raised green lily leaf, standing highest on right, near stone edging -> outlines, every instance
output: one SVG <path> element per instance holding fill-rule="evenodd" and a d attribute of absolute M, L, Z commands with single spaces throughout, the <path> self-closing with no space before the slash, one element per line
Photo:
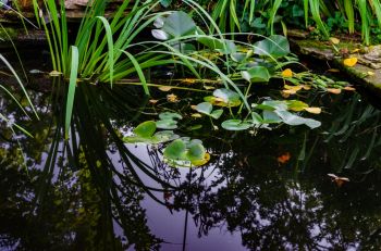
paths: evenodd
<path fill-rule="evenodd" d="M 272 58 L 281 58 L 290 53 L 287 39 L 280 35 L 272 35 L 267 39 L 256 42 L 254 53 Z"/>

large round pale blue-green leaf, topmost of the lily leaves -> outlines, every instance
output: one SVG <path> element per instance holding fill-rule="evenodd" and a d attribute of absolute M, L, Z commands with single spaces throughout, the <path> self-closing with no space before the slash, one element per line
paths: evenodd
<path fill-rule="evenodd" d="M 196 24 L 188 14 L 183 11 L 175 11 L 170 14 L 165 21 L 162 30 L 170 34 L 174 38 L 195 34 Z"/>

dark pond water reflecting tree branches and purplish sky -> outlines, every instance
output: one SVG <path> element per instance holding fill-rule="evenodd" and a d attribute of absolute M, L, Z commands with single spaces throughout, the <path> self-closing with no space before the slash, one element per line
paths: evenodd
<path fill-rule="evenodd" d="M 39 121 L 0 103 L 35 136 L 14 136 L 1 123 L 1 250 L 381 248 L 381 114 L 358 93 L 308 91 L 302 98 L 323 108 L 308 115 L 321 127 L 250 134 L 186 116 L 194 93 L 173 90 L 180 101 L 168 103 L 153 91 L 153 105 L 135 87 L 79 85 L 65 141 L 64 85 L 41 75 L 29 88 L 38 89 L 30 96 Z M 179 134 L 204 141 L 206 166 L 172 168 L 162 147 L 121 140 L 164 108 L 186 117 Z M 194 125 L 202 127 L 187 130 Z"/>

